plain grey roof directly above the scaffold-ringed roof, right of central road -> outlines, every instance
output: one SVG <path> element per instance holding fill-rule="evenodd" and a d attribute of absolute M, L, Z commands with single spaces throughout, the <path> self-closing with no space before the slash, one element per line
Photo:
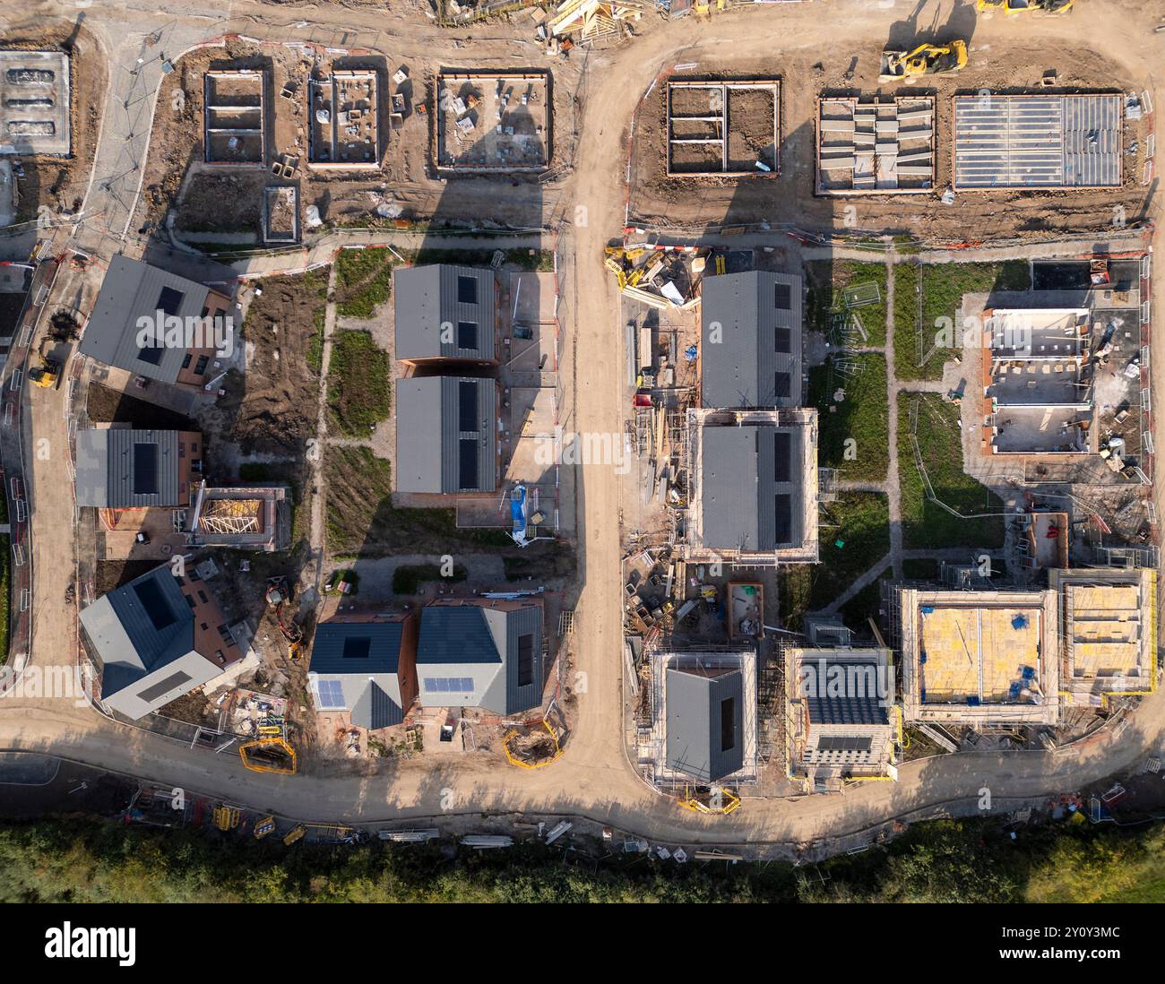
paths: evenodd
<path fill-rule="evenodd" d="M 777 306 L 778 286 L 782 306 Z M 785 293 L 788 306 L 784 306 Z M 700 319 L 701 405 L 711 409 L 800 405 L 799 276 L 751 270 L 705 277 Z"/>

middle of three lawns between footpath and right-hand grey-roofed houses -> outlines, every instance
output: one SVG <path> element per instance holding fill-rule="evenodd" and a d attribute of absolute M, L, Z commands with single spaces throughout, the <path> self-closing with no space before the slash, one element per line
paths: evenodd
<path fill-rule="evenodd" d="M 843 375 L 832 360 L 810 369 L 809 404 L 819 413 L 818 462 L 841 469 L 842 479 L 881 482 L 889 466 L 890 441 L 885 358 L 870 353 L 847 361 L 861 366 L 861 371 Z M 834 403 L 839 389 L 846 398 Z M 847 445 L 850 438 L 854 444 Z"/>

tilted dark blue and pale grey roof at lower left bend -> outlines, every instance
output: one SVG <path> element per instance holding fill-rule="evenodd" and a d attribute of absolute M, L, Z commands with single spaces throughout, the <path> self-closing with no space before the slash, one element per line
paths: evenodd
<path fill-rule="evenodd" d="M 195 652 L 195 616 L 167 565 L 101 595 L 80 622 L 104 665 L 103 700 Z"/>

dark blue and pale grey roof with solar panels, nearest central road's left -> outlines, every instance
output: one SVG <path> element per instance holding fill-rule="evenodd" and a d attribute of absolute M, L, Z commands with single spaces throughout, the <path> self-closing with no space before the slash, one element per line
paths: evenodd
<path fill-rule="evenodd" d="M 531 636 L 529 682 L 520 680 L 518 647 Z M 510 715 L 542 702 L 542 609 L 503 611 L 481 606 L 428 606 L 421 614 L 417 677 L 421 702 L 429 707 L 481 707 Z M 468 682 L 438 689 L 435 680 Z"/>

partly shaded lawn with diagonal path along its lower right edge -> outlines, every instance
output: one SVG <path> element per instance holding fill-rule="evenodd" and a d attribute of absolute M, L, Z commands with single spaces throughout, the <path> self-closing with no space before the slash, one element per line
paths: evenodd
<path fill-rule="evenodd" d="M 890 505 L 880 493 L 842 493 L 821 503 L 820 525 L 821 562 L 781 573 L 781 622 L 793 631 L 805 613 L 825 608 L 890 552 Z"/>

